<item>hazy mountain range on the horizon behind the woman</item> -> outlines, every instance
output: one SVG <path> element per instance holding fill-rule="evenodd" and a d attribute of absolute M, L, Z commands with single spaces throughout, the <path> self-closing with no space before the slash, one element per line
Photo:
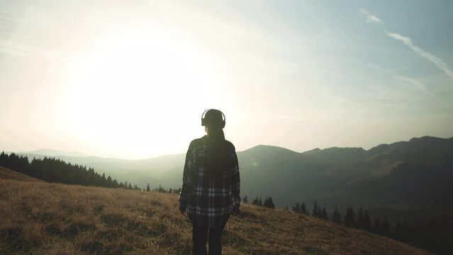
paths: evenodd
<path fill-rule="evenodd" d="M 181 186 L 184 154 L 152 159 L 126 160 L 52 156 L 73 164 L 91 166 L 118 181 L 145 187 Z M 413 138 L 408 142 L 378 145 L 371 149 L 313 149 L 293 152 L 282 147 L 258 145 L 237 152 L 241 194 L 252 200 L 272 196 L 277 207 L 314 201 L 332 211 L 367 208 L 379 213 L 411 212 L 439 208 L 452 212 L 453 137 Z M 389 210 L 393 210 L 390 212 Z"/>

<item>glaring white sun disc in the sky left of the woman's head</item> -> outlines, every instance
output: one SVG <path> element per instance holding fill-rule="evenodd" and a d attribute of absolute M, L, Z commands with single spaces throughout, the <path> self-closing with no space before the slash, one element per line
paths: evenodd
<path fill-rule="evenodd" d="M 66 123 L 103 150 L 149 152 L 152 142 L 165 152 L 169 138 L 183 135 L 172 128 L 193 118 L 181 113 L 198 113 L 211 103 L 203 94 L 216 94 L 208 86 L 221 82 L 213 62 L 188 35 L 156 23 L 106 30 L 72 59 Z"/>

